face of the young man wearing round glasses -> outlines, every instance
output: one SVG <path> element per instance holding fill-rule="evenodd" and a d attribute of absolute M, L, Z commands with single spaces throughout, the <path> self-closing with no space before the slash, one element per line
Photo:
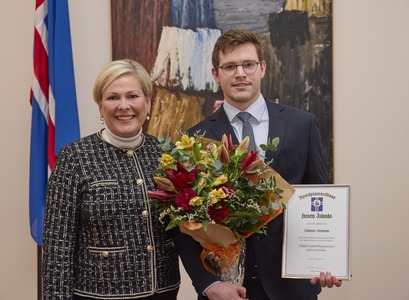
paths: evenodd
<path fill-rule="evenodd" d="M 241 65 L 246 62 L 258 62 L 256 47 L 251 43 L 238 46 L 234 50 L 225 54 L 220 53 L 219 66 L 227 64 Z M 261 62 L 253 74 L 247 75 L 243 67 L 238 66 L 236 73 L 226 76 L 221 68 L 213 68 L 212 74 L 215 81 L 223 90 L 225 100 L 232 106 L 240 110 L 245 110 L 260 95 L 261 79 L 266 70 L 265 61 Z"/>

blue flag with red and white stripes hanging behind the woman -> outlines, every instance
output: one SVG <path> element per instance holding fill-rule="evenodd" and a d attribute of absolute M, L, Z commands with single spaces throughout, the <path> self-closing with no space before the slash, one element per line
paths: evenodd
<path fill-rule="evenodd" d="M 62 147 L 80 138 L 68 0 L 36 0 L 30 141 L 30 230 L 42 243 L 48 175 Z"/>

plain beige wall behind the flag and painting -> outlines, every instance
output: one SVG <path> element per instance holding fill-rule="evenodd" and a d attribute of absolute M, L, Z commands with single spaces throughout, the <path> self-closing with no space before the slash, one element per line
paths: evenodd
<path fill-rule="evenodd" d="M 335 182 L 352 185 L 353 279 L 320 299 L 409 299 L 409 1 L 334 1 Z M 96 73 L 110 60 L 109 0 L 70 0 L 81 133 L 100 127 Z M 36 298 L 28 224 L 34 0 L 0 1 L 0 299 Z M 194 299 L 183 279 L 180 299 Z"/>

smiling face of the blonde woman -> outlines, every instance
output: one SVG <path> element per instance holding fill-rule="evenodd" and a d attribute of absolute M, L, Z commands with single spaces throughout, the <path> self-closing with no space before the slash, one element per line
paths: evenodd
<path fill-rule="evenodd" d="M 99 112 L 108 129 L 119 137 L 135 136 L 151 108 L 151 95 L 145 96 L 141 83 L 133 74 L 115 79 L 99 103 Z"/>

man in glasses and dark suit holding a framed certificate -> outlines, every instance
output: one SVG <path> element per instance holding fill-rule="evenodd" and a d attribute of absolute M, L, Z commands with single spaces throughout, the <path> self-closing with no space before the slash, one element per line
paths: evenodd
<path fill-rule="evenodd" d="M 257 37 L 241 29 L 227 31 L 214 46 L 212 64 L 212 74 L 223 91 L 224 103 L 189 133 L 199 132 L 215 140 L 231 134 L 233 143 L 238 144 L 245 137 L 242 129 L 246 121 L 241 121 L 237 114 L 248 112 L 256 145 L 280 138 L 276 152 L 263 153 L 257 149 L 265 155 L 265 162 L 291 184 L 326 183 L 321 137 L 314 115 L 266 101 L 261 94 L 266 62 Z M 267 235 L 253 234 L 247 238 L 242 287 L 220 282 L 207 272 L 199 257 L 202 247 L 190 236 L 177 233 L 175 238 L 199 299 L 314 300 L 321 286 L 341 286 L 342 282 L 329 272 L 312 280 L 281 278 L 282 240 L 282 214 L 268 223 Z"/>

